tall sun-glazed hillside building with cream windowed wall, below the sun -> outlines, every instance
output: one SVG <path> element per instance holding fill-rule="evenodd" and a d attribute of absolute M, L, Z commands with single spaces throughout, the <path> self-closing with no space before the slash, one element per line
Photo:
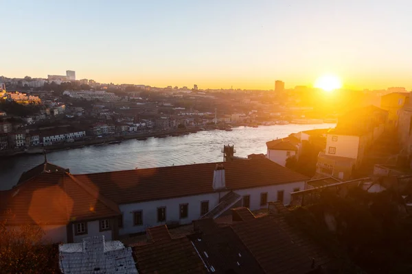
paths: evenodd
<path fill-rule="evenodd" d="M 326 136 L 325 151 L 319 152 L 317 177 L 352 178 L 363 164 L 365 151 L 382 135 L 388 112 L 374 105 L 347 112 Z"/>

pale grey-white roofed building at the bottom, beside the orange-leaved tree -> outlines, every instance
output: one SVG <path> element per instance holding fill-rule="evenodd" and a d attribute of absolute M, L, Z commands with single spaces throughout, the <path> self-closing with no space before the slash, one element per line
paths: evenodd
<path fill-rule="evenodd" d="M 60 245 L 58 251 L 60 271 L 65 274 L 137 274 L 132 249 L 119 240 L 84 238 L 82 242 Z"/>

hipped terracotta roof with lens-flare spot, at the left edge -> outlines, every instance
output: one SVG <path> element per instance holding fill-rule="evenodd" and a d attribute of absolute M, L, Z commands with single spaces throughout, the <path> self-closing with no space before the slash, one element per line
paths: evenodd
<path fill-rule="evenodd" d="M 115 203 L 68 173 L 42 173 L 7 195 L 8 203 L 0 204 L 0 219 L 8 219 L 9 224 L 67 224 L 120 214 Z"/>

